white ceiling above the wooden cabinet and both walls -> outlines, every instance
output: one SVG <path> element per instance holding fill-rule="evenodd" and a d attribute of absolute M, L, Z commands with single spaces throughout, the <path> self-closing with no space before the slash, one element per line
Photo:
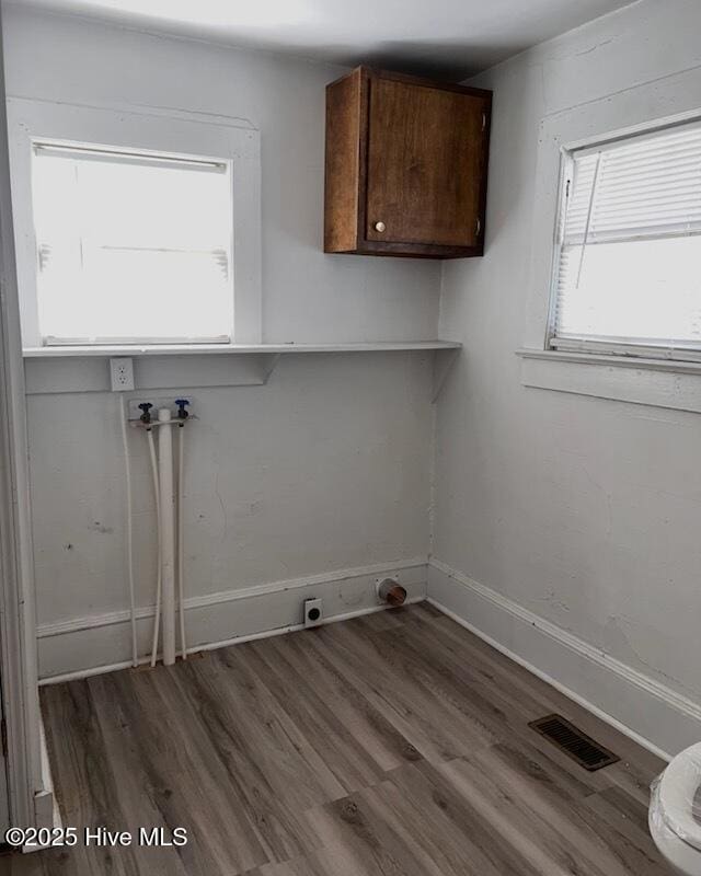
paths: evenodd
<path fill-rule="evenodd" d="M 14 0 L 142 30 L 463 79 L 631 0 Z"/>

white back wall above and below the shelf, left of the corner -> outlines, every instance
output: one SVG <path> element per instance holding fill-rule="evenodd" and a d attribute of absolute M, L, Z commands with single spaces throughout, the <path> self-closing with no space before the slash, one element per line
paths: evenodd
<path fill-rule="evenodd" d="M 266 341 L 436 336 L 439 264 L 321 251 L 324 85 L 341 70 L 14 8 L 4 39 L 12 96 L 174 107 L 260 128 Z M 425 558 L 430 364 L 430 354 L 290 356 L 267 387 L 188 390 L 202 416 L 186 476 L 191 595 Z M 44 627 L 82 629 L 80 619 L 127 604 L 115 404 L 104 392 L 28 400 Z M 148 606 L 153 515 L 140 437 L 137 584 Z M 368 600 L 354 595 L 353 607 Z M 269 625 L 297 619 L 295 609 Z M 41 641 L 44 675 L 93 659 L 71 650 L 71 635 L 60 647 Z M 101 661 L 127 656 L 125 624 L 107 652 Z"/>

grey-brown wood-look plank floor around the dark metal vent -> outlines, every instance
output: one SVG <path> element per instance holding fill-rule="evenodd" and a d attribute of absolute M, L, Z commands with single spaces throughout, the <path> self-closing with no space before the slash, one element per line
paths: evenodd
<path fill-rule="evenodd" d="M 0 858 L 11 876 L 663 876 L 663 763 L 424 603 L 42 690 L 66 825 L 174 849 Z M 587 773 L 559 712 L 621 757 Z M 1 872 L 2 865 L 0 865 Z"/>

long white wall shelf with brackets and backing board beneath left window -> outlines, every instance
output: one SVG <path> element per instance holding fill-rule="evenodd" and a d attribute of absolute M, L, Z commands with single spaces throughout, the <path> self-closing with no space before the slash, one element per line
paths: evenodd
<path fill-rule="evenodd" d="M 110 391 L 107 359 L 133 357 L 136 391 L 193 387 L 265 385 L 284 356 L 308 353 L 433 353 L 433 401 L 461 344 L 453 341 L 369 341 L 355 344 L 198 344 L 28 347 L 28 395 Z"/>

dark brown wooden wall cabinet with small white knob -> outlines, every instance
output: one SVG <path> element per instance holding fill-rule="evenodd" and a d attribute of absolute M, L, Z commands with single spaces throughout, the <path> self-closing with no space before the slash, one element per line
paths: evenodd
<path fill-rule="evenodd" d="M 359 67 L 326 87 L 324 252 L 482 255 L 492 92 Z"/>

